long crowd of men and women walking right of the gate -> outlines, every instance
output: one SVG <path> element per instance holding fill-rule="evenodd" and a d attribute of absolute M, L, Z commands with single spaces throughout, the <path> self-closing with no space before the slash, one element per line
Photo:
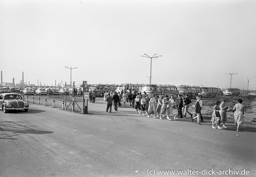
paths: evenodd
<path fill-rule="evenodd" d="M 173 115 L 174 120 L 178 118 L 186 117 L 187 114 L 190 115 L 190 119 L 193 122 L 193 120 L 197 119 L 197 124 L 202 125 L 200 121 L 203 120 L 203 116 L 201 114 L 201 109 L 203 106 L 203 102 L 201 100 L 201 96 L 196 97 L 196 103 L 194 104 L 194 111 L 195 115 L 193 116 L 192 113 L 188 111 L 188 108 L 190 106 L 191 100 L 188 95 L 186 95 L 185 98 L 182 97 L 181 94 L 178 95 L 177 100 L 174 100 L 174 96 L 171 95 L 170 97 L 168 95 L 165 95 L 164 97 L 162 95 L 155 96 L 153 95 L 151 98 L 149 98 L 149 95 L 146 94 L 146 92 L 137 93 L 134 90 L 129 92 L 128 90 L 126 92 L 115 92 L 113 97 L 111 96 L 110 91 L 106 92 L 104 94 L 104 100 L 105 103 L 107 103 L 107 109 L 106 112 L 111 112 L 112 103 L 114 104 L 114 109 L 117 111 L 118 106 L 122 106 L 121 102 L 124 103 L 130 103 L 130 106 L 132 108 L 135 108 L 136 112 L 138 112 L 140 115 L 142 114 L 145 116 L 145 114 L 148 114 L 148 117 L 150 115 L 153 115 L 154 118 L 163 119 L 163 117 L 166 117 L 168 120 L 170 119 L 170 114 Z M 212 112 L 212 128 L 218 128 L 218 129 L 224 129 L 227 128 L 225 126 L 225 123 L 227 122 L 227 113 L 226 110 L 228 109 L 228 106 L 225 104 L 226 100 L 222 99 L 220 101 L 216 101 L 215 106 L 213 107 Z M 237 125 L 237 130 L 240 131 L 239 127 L 241 124 L 243 124 L 244 119 L 244 111 L 246 111 L 243 104 L 241 104 L 243 101 L 242 99 L 237 100 L 237 104 L 234 106 L 234 123 Z M 219 105 L 220 104 L 220 105 Z M 177 116 L 176 110 L 178 112 Z M 184 111 L 184 115 L 182 113 Z M 220 127 L 220 123 L 222 123 L 222 127 Z M 215 125 L 217 127 L 215 127 Z"/>

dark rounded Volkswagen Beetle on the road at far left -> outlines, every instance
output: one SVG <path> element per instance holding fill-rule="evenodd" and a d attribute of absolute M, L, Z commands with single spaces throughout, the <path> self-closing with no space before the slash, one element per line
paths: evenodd
<path fill-rule="evenodd" d="M 20 94 L 3 93 L 0 95 L 0 109 L 7 113 L 8 110 L 24 110 L 28 111 L 29 105 L 24 102 Z"/>

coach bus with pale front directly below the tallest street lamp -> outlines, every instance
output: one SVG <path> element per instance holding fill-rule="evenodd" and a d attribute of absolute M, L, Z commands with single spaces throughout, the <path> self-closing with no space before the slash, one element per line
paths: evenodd
<path fill-rule="evenodd" d="M 148 96 L 151 98 L 152 95 L 173 95 L 174 98 L 176 99 L 178 95 L 178 90 L 177 87 L 174 85 L 154 85 L 154 84 L 145 84 L 141 87 L 141 94 L 146 92 Z"/>

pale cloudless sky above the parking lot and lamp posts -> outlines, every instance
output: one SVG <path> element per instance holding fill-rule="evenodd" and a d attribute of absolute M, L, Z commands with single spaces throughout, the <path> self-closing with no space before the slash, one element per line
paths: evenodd
<path fill-rule="evenodd" d="M 88 84 L 151 71 L 151 84 L 256 89 L 255 0 L 0 0 L 0 24 L 3 82 L 69 83 L 66 66 Z"/>

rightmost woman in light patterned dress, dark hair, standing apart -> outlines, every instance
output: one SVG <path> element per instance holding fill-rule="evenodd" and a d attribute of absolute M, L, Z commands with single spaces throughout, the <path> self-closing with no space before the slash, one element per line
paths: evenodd
<path fill-rule="evenodd" d="M 243 100 L 238 99 L 237 104 L 234 106 L 233 111 L 234 112 L 234 123 L 236 124 L 236 131 L 240 132 L 239 127 L 244 122 L 244 111 L 246 111 L 246 108 L 244 104 L 242 104 Z"/>

